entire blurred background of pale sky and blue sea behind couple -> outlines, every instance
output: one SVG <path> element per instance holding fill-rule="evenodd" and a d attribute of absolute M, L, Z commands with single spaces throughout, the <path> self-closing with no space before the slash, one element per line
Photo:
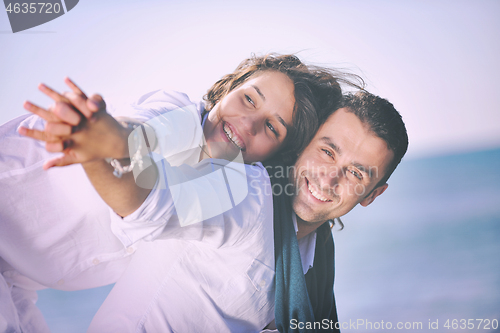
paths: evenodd
<path fill-rule="evenodd" d="M 499 1 L 87 0 L 16 34 L 0 10 L 0 48 L 0 123 L 24 100 L 48 106 L 38 83 L 63 91 L 64 76 L 132 101 L 158 88 L 199 100 L 251 53 L 361 75 L 401 112 L 410 148 L 384 195 L 334 230 L 342 331 L 496 328 L 476 319 L 500 320 Z M 85 332 L 110 290 L 43 290 L 38 304 L 53 332 Z"/>

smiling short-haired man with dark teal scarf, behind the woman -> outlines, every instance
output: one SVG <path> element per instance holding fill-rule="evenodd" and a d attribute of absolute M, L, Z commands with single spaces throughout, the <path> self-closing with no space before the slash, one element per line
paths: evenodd
<path fill-rule="evenodd" d="M 368 206 L 381 195 L 407 147 L 405 125 L 393 105 L 358 92 L 345 96 L 341 108 L 328 117 L 300 154 L 291 177 L 291 201 L 299 242 L 311 235 L 317 237 L 315 258 L 313 268 L 301 278 L 300 258 L 307 255 L 299 255 L 293 237 L 289 198 L 275 196 L 275 314 L 280 332 L 338 330 L 333 239 L 326 222 L 345 215 L 357 204 Z M 273 187 L 286 186 L 286 180 L 278 176 L 282 175 L 280 168 L 273 166 L 271 170 Z"/>

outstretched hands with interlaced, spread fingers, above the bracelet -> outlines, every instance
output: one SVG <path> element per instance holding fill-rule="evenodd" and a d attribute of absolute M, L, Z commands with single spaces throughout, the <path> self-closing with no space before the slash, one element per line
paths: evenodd
<path fill-rule="evenodd" d="M 127 157 L 128 131 L 106 112 L 106 104 L 100 95 L 88 98 L 69 78 L 65 83 L 71 92 L 63 95 L 46 85 L 40 91 L 55 101 L 48 110 L 25 102 L 26 110 L 47 121 L 43 131 L 21 127 L 19 133 L 45 141 L 49 152 L 64 155 L 51 159 L 44 169 L 85 163 L 107 157 Z"/>

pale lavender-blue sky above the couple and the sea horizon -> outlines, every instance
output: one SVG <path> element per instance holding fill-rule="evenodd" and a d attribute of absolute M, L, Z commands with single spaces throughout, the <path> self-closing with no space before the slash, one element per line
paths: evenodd
<path fill-rule="evenodd" d="M 113 100 L 200 99 L 252 52 L 361 74 L 402 113 L 409 157 L 500 147 L 500 2 L 92 1 L 12 34 L 0 11 L 0 123 L 68 75 Z"/>

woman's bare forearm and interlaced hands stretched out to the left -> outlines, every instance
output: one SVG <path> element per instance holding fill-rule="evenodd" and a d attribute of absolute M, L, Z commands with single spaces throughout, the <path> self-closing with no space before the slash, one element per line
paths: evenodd
<path fill-rule="evenodd" d="M 122 126 L 109 115 L 100 96 L 88 99 L 69 79 L 66 83 L 73 92 L 64 96 L 41 86 L 42 92 L 54 99 L 56 104 L 50 111 L 31 103 L 26 103 L 25 107 L 47 121 L 45 131 L 21 128 L 20 134 L 45 141 L 48 151 L 64 153 L 46 162 L 46 169 L 81 163 L 103 200 L 118 215 L 127 216 L 141 206 L 153 188 L 157 178 L 156 167 L 151 164 L 141 172 L 141 186 L 137 185 L 132 173 L 116 178 L 113 167 L 104 158 L 129 157 L 128 137 L 132 128 Z M 85 117 L 79 116 L 75 109 Z M 77 126 L 76 131 L 74 126 Z"/>

